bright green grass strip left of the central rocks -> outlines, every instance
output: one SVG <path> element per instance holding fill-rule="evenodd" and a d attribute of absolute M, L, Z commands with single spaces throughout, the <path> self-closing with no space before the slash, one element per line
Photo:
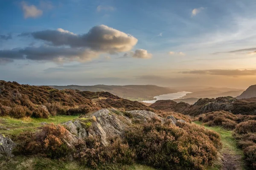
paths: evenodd
<path fill-rule="evenodd" d="M 41 127 L 41 122 L 46 123 L 64 123 L 72 119 L 76 119 L 79 116 L 51 116 L 49 119 L 44 118 L 21 118 L 15 119 L 9 116 L 0 117 L 0 133 L 9 136 L 9 135 L 17 135 L 24 131 L 35 131 L 38 127 Z M 7 130 L 8 129 L 8 130 Z"/>

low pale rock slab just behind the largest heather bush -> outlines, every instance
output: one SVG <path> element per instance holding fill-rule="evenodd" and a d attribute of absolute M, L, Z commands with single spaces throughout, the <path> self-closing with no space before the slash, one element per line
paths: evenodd
<path fill-rule="evenodd" d="M 126 111 L 127 113 L 131 113 L 134 119 L 141 119 L 144 121 L 150 120 L 154 117 L 160 119 L 162 122 L 164 122 L 163 118 L 158 116 L 156 113 L 151 111 Z"/>

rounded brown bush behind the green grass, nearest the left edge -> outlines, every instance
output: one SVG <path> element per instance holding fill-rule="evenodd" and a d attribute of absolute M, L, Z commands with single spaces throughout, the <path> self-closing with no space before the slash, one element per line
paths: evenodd
<path fill-rule="evenodd" d="M 30 111 L 26 106 L 15 105 L 15 107 L 10 109 L 9 115 L 13 118 L 19 119 L 26 116 L 31 116 L 32 111 Z"/>

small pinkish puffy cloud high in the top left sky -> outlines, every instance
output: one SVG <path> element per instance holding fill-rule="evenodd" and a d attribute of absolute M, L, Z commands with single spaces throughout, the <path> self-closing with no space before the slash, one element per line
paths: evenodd
<path fill-rule="evenodd" d="M 36 6 L 34 5 L 27 5 L 27 3 L 25 1 L 22 1 L 21 3 L 22 5 L 22 9 L 23 9 L 23 15 L 24 18 L 36 18 L 36 17 L 40 17 L 43 14 L 43 11 L 38 9 Z"/>

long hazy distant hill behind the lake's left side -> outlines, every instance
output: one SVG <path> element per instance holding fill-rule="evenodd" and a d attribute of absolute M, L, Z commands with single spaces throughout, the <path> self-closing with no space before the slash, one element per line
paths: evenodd
<path fill-rule="evenodd" d="M 124 99 L 143 101 L 153 100 L 154 96 L 162 94 L 176 93 L 177 90 L 156 85 L 67 85 L 67 86 L 50 86 L 58 90 L 76 89 L 79 91 L 107 91 Z"/>

